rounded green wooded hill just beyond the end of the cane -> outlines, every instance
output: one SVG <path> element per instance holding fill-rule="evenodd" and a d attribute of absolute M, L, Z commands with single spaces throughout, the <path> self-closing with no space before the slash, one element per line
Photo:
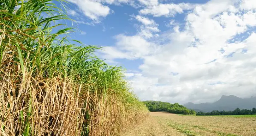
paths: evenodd
<path fill-rule="evenodd" d="M 167 111 L 173 114 L 196 115 L 196 111 L 187 109 L 185 106 L 178 103 L 167 103 L 159 101 L 144 101 L 143 102 L 149 111 Z"/>

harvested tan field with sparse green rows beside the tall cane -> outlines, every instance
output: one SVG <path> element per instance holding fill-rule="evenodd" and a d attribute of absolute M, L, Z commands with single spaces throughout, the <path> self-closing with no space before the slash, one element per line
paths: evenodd
<path fill-rule="evenodd" d="M 256 117 L 150 112 L 145 122 L 123 136 L 256 136 Z"/>

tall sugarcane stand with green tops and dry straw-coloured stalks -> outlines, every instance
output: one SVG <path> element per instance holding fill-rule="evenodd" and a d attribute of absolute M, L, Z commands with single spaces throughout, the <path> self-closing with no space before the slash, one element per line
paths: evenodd
<path fill-rule="evenodd" d="M 70 42 L 70 28 L 58 29 L 56 20 L 67 18 L 54 3 L 0 3 L 0 135 L 119 135 L 148 111 L 122 69 L 98 59 L 95 46 Z"/>

